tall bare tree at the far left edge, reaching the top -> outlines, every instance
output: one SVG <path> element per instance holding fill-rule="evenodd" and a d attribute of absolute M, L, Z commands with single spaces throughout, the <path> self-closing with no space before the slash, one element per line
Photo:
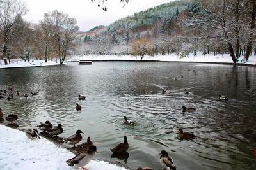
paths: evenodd
<path fill-rule="evenodd" d="M 3 0 L 0 3 L 0 31 L 2 39 L 2 52 L 1 59 L 7 63 L 6 53 L 8 51 L 10 40 L 17 33 L 17 24 L 22 16 L 28 13 L 26 4 L 20 0 Z"/>

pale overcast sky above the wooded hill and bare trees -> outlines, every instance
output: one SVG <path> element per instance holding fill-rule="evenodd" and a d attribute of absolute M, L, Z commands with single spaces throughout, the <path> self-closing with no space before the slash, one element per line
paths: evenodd
<path fill-rule="evenodd" d="M 88 0 L 24 0 L 29 8 L 29 12 L 24 19 L 38 23 L 43 20 L 44 13 L 58 10 L 68 13 L 69 17 L 76 18 L 77 25 L 81 31 L 88 31 L 98 25 L 109 25 L 119 18 L 127 15 L 133 15 L 138 11 L 147 10 L 148 8 L 159 4 L 168 3 L 173 0 L 129 0 L 128 4 L 120 3 L 120 0 L 105 1 L 108 11 L 103 11 L 98 7 L 99 1 Z"/>

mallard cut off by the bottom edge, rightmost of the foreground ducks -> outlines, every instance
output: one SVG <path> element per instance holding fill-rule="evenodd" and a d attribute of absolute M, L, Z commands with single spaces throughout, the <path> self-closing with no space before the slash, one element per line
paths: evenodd
<path fill-rule="evenodd" d="M 168 156 L 168 153 L 165 150 L 162 150 L 161 153 L 159 153 L 160 156 L 160 164 L 164 168 L 164 170 L 176 170 L 176 166 L 173 162 L 172 157 Z"/>

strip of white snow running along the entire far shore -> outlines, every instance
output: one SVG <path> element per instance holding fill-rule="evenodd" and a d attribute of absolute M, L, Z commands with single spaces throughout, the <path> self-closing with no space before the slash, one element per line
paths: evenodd
<path fill-rule="evenodd" d="M 248 64 L 256 66 L 256 56 L 250 56 L 248 62 L 243 62 L 243 56 L 239 58 L 239 63 Z M 133 55 L 79 55 L 69 57 L 67 61 L 79 61 L 79 60 L 140 60 L 140 56 L 137 56 L 137 59 Z M 202 63 L 225 63 L 225 64 L 233 64 L 233 61 L 229 54 L 223 55 L 203 55 L 202 53 L 198 53 L 198 55 L 193 56 L 193 53 L 189 53 L 187 57 L 182 57 L 172 53 L 171 55 L 154 55 L 148 56 L 145 55 L 143 60 L 156 60 L 162 62 L 202 62 Z M 10 67 L 36 67 L 36 66 L 53 66 L 60 65 L 54 61 L 44 60 L 30 60 L 30 62 L 22 61 L 22 60 L 12 60 L 11 64 L 4 65 L 4 61 L 0 60 L 0 69 L 1 68 L 10 68 Z"/>

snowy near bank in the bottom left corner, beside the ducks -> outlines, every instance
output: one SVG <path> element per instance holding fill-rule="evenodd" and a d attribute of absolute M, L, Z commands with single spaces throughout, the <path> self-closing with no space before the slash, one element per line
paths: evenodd
<path fill-rule="evenodd" d="M 45 138 L 29 139 L 25 132 L 0 125 L 0 169 L 73 169 L 66 163 L 74 154 Z M 92 160 L 89 170 L 125 170 L 116 164 Z"/>

